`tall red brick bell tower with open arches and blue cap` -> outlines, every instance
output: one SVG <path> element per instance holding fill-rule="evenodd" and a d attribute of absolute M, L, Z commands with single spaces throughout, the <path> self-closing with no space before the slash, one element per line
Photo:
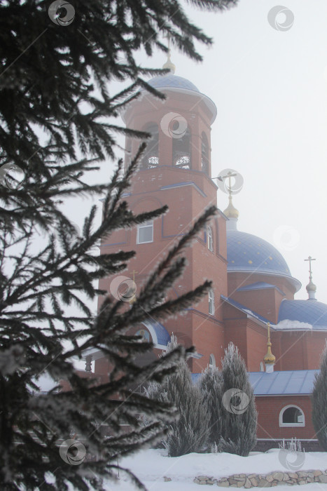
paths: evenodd
<path fill-rule="evenodd" d="M 149 81 L 166 96 L 154 97 L 146 90 L 125 110 L 127 128 L 151 133 L 146 153 L 130 191 L 124 196 L 134 213 L 150 211 L 167 204 L 165 216 L 141 224 L 135 229 L 118 231 L 102 250 L 136 250 L 126 276 L 135 274 L 140 288 L 160 257 L 186 233 L 203 210 L 216 205 L 217 187 L 211 180 L 211 124 L 216 118 L 214 102 L 189 80 L 174 75 L 170 55 L 165 68 L 171 72 Z M 125 166 L 139 147 L 139 140 L 126 139 Z M 174 332 L 186 347 L 195 345 L 197 355 L 191 360 L 193 372 L 218 364 L 223 356 L 223 313 L 221 295 L 227 295 L 226 217 L 219 212 L 185 250 L 188 267 L 169 292 L 179 297 L 196 288 L 205 279 L 213 281 L 209 295 L 187 309 L 178 319 L 164 321 L 169 335 Z M 103 249 L 104 248 L 104 249 Z M 100 288 L 109 290 L 106 281 Z M 137 293 L 136 293 L 137 297 Z M 149 322 L 156 320 L 149 319 Z M 151 336 L 151 332 L 149 333 Z M 152 336 L 153 337 L 153 336 Z M 153 340 L 154 342 L 154 340 Z M 162 343 L 158 343 L 162 347 Z"/>

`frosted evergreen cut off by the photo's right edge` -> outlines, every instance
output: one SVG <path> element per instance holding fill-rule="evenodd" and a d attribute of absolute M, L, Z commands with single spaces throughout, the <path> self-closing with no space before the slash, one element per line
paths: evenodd
<path fill-rule="evenodd" d="M 320 372 L 312 391 L 312 423 L 321 448 L 327 452 L 327 344 L 321 355 Z"/>

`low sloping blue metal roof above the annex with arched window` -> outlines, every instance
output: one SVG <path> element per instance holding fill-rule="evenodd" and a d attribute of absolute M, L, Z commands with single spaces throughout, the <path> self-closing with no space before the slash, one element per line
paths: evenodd
<path fill-rule="evenodd" d="M 320 370 L 285 370 L 283 372 L 249 372 L 255 396 L 287 396 L 312 394 L 316 373 Z M 192 373 L 193 382 L 198 382 L 202 373 Z"/>

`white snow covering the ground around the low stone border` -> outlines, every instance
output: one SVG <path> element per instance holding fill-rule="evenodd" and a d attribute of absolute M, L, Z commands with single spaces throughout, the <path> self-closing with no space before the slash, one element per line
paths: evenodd
<path fill-rule="evenodd" d="M 165 450 L 143 450 L 132 457 L 126 457 L 120 465 L 130 469 L 148 488 L 148 491 L 200 491 L 201 487 L 193 483 L 195 476 L 228 477 L 235 473 L 267 474 L 271 471 L 308 471 L 327 469 L 327 452 L 305 453 L 304 462 L 298 469 L 288 469 L 279 462 L 279 450 L 255 453 L 249 457 L 239 457 L 228 453 L 188 454 L 181 457 L 167 457 Z M 289 464 L 295 464 L 288 459 Z M 172 478 L 164 482 L 164 476 Z M 214 485 L 216 489 L 216 485 Z M 298 489 L 297 486 L 294 487 Z M 310 483 L 303 485 L 303 491 L 327 491 L 327 484 Z M 119 483 L 106 483 L 107 491 L 132 491 L 136 488 L 120 474 Z M 207 489 L 207 488 L 206 488 Z M 223 488 L 221 488 L 223 489 Z M 234 488 L 230 488 L 234 489 Z M 239 488 L 244 489 L 244 488 Z M 251 488 L 259 490 L 260 488 Z M 278 486 L 278 491 L 290 491 L 288 485 Z"/>

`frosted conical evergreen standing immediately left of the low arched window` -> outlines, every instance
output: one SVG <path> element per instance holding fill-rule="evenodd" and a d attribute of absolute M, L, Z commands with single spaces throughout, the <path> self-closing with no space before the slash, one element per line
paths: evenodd
<path fill-rule="evenodd" d="M 257 412 L 246 365 L 234 344 L 222 360 L 222 423 L 218 450 L 249 455 L 256 445 Z"/>

